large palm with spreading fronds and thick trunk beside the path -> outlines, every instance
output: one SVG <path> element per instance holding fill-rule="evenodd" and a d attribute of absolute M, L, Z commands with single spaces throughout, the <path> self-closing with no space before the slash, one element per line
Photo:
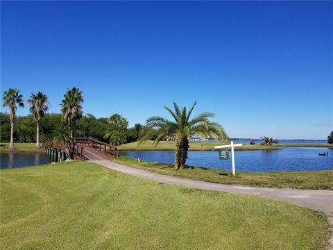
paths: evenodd
<path fill-rule="evenodd" d="M 148 118 L 146 120 L 146 126 L 153 129 L 147 130 L 140 140 L 140 143 L 142 143 L 151 138 L 153 133 L 157 133 L 157 138 L 153 142 L 156 146 L 161 140 L 165 140 L 166 138 L 177 138 L 175 152 L 176 170 L 185 166 L 187 151 L 189 149 L 189 138 L 191 135 L 201 135 L 203 137 L 213 136 L 215 138 L 229 140 L 228 135 L 219 124 L 210 122 L 209 118 L 214 117 L 213 113 L 200 113 L 190 119 L 194 106 L 196 106 L 196 102 L 194 102 L 188 113 L 186 107 L 180 110 L 175 102 L 173 102 L 174 111 L 164 106 L 173 117 L 173 121 L 164 117 Z"/>

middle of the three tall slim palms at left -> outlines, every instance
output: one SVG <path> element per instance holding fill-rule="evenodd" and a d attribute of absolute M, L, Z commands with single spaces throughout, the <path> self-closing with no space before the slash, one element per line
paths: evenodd
<path fill-rule="evenodd" d="M 30 112 L 35 117 L 36 121 L 36 149 L 40 148 L 40 119 L 44 117 L 45 111 L 49 109 L 49 102 L 47 101 L 46 94 L 37 92 L 37 94 L 31 93 L 30 99 L 28 99 L 30 106 Z"/>

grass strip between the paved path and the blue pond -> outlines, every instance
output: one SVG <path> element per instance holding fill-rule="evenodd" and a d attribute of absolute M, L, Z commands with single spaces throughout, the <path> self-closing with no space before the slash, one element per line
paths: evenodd
<path fill-rule="evenodd" d="M 175 171 L 173 165 L 162 163 L 148 163 L 126 156 L 119 156 L 115 162 L 158 174 L 166 174 L 181 178 L 190 178 L 212 183 L 225 183 L 234 185 L 250 185 L 271 188 L 298 188 L 314 190 L 333 190 L 333 170 L 310 172 L 264 172 L 245 173 L 239 172 L 232 176 L 231 172 L 207 169 L 203 167 L 187 167 Z"/>

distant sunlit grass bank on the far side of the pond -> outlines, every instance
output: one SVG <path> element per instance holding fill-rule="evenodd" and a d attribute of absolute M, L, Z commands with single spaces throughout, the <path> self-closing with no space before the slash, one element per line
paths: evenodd
<path fill-rule="evenodd" d="M 237 144 L 237 142 L 234 142 Z M 189 150 L 198 151 L 210 151 L 215 150 L 214 147 L 223 144 L 222 142 L 189 142 Z M 160 142 L 157 147 L 153 145 L 153 141 L 147 141 L 142 144 L 139 142 L 131 142 L 122 144 L 118 147 L 119 150 L 174 150 L 176 149 L 176 142 Z M 282 149 L 277 146 L 262 146 L 262 145 L 250 145 L 244 144 L 242 147 L 235 147 L 234 150 L 271 150 L 271 149 Z"/>

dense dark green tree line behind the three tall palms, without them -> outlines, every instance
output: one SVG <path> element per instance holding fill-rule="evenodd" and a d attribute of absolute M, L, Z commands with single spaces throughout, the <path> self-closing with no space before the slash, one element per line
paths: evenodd
<path fill-rule="evenodd" d="M 119 124 L 114 122 L 114 117 L 120 117 Z M 47 138 L 56 137 L 66 124 L 61 114 L 46 113 L 40 119 L 39 126 L 40 141 L 42 142 Z M 10 117 L 8 113 L 0 113 L 0 127 L 1 142 L 10 142 Z M 14 142 L 36 142 L 35 127 L 36 121 L 33 115 L 15 117 Z M 147 129 L 142 124 L 135 124 L 129 128 L 128 120 L 118 114 L 101 118 L 96 118 L 92 114 L 83 115 L 76 120 L 74 128 L 74 137 L 92 137 L 103 142 L 111 142 L 114 145 L 135 142 L 142 138 L 142 130 Z M 154 139 L 155 136 L 152 135 L 151 140 Z"/>

